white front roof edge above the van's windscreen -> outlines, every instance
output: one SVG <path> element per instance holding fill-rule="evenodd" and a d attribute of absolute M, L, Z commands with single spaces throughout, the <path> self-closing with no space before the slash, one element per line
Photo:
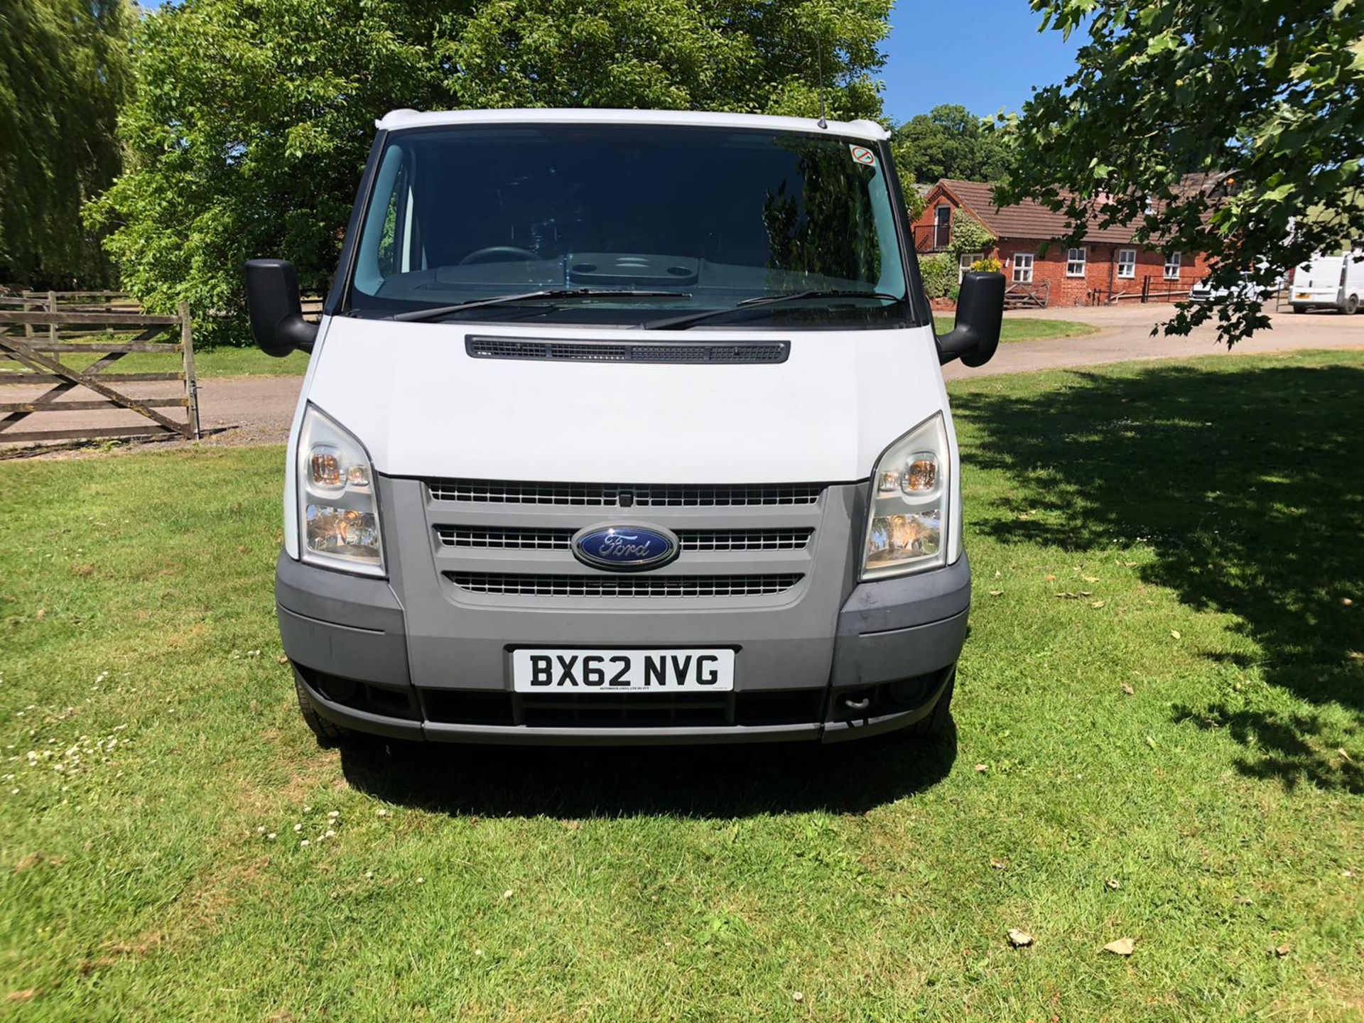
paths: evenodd
<path fill-rule="evenodd" d="M 704 110 L 599 110 L 599 109 L 509 109 L 509 110 L 390 110 L 374 123 L 381 131 L 431 128 L 441 124 L 678 124 L 708 128 L 765 128 L 768 131 L 828 131 L 855 139 L 878 142 L 889 132 L 876 121 L 828 121 L 828 128 L 810 117 L 768 117 L 756 113 L 708 113 Z"/>

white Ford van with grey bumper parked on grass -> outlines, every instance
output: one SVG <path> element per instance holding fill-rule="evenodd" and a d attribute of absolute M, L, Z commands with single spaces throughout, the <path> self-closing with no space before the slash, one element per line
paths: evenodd
<path fill-rule="evenodd" d="M 303 716 L 453 742 L 846 739 L 947 720 L 970 570 L 877 124 L 645 110 L 378 121 L 311 352 L 276 597 Z"/>

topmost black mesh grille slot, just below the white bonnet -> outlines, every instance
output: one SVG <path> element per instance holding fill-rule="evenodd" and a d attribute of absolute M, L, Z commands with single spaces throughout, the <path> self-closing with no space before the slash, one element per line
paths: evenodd
<path fill-rule="evenodd" d="M 522 483 L 506 480 L 431 480 L 434 501 L 477 505 L 569 505 L 578 507 L 738 507 L 813 505 L 822 483 L 671 484 L 671 483 Z M 623 499 L 622 499 L 623 498 Z"/>

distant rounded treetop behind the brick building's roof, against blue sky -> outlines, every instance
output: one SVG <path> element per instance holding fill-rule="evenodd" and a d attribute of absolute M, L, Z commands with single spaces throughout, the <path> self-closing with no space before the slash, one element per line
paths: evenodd
<path fill-rule="evenodd" d="M 933 184 L 943 177 L 1001 181 L 1012 169 L 1008 132 L 992 128 L 964 106 L 944 104 L 900 124 L 891 140 L 914 180 Z"/>

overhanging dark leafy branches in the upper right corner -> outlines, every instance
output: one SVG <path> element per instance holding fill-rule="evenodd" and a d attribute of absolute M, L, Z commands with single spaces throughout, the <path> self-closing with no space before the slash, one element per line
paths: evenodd
<path fill-rule="evenodd" d="M 1018 164 L 996 199 L 1138 222 L 1139 240 L 1203 251 L 1215 286 L 1271 284 L 1315 251 L 1364 236 L 1364 3 L 1031 0 L 1043 29 L 1083 30 L 1076 70 L 1018 121 Z M 1269 323 L 1236 288 L 1181 307 L 1228 344 Z"/>

